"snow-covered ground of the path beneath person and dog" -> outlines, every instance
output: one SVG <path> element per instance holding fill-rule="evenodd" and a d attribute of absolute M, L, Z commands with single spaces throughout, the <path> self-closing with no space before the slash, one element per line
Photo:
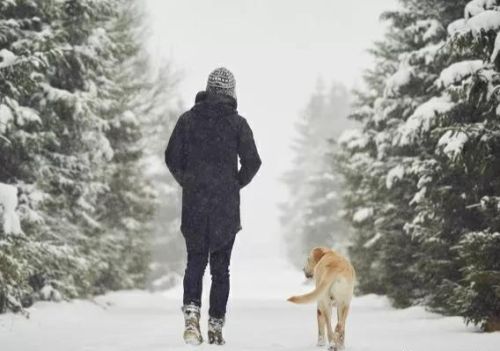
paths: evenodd
<path fill-rule="evenodd" d="M 265 269 L 267 268 L 267 270 Z M 315 306 L 287 303 L 310 287 L 286 263 L 235 259 L 226 351 L 317 350 Z M 206 289 L 205 293 L 207 293 Z M 38 303 L 31 318 L 0 316 L 3 351 L 215 350 L 183 344 L 180 287 L 166 293 L 125 291 L 94 302 Z M 206 332 L 206 306 L 202 327 Z M 347 323 L 348 351 L 493 351 L 500 333 L 482 334 L 461 318 L 421 307 L 394 310 L 384 297 L 354 299 Z"/>

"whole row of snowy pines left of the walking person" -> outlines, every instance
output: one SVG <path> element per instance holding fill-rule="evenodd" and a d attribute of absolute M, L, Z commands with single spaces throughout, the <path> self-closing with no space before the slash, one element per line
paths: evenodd
<path fill-rule="evenodd" d="M 149 62 L 143 5 L 0 2 L 0 182 L 17 187 L 22 224 L 0 229 L 0 312 L 175 268 L 152 248 L 178 238 L 160 150 L 177 77 Z"/>

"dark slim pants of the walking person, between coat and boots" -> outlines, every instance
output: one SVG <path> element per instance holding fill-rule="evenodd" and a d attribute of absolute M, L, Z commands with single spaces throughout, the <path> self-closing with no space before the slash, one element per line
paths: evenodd
<path fill-rule="evenodd" d="M 189 249 L 187 266 L 184 273 L 184 305 L 195 304 L 201 307 L 203 275 L 210 260 L 212 286 L 210 288 L 210 309 L 208 314 L 214 318 L 224 318 L 229 297 L 229 263 L 234 238 L 227 245 L 215 252 L 210 252 L 208 245 L 199 249 Z"/>

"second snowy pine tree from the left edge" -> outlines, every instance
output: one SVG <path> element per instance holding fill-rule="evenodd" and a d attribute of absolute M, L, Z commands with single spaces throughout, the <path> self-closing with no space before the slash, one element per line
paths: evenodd
<path fill-rule="evenodd" d="M 73 297 L 100 292 L 96 286 L 112 257 L 102 243 L 99 198 L 109 191 L 106 170 L 114 151 L 107 138 L 107 113 L 116 84 L 106 75 L 119 58 L 110 26 L 119 15 L 119 1 L 66 0 L 57 3 L 60 17 L 52 18 L 56 45 L 62 56 L 50 62 L 38 109 L 52 140 L 42 150 L 46 165 L 38 183 L 47 193 L 45 222 L 58 247 L 75 252 L 78 265 L 65 266 L 54 258 L 46 263 L 44 279 Z M 47 240 L 44 237 L 43 240 Z"/>

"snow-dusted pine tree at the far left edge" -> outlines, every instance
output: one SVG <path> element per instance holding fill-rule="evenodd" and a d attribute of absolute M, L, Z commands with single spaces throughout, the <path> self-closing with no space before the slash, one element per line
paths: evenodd
<path fill-rule="evenodd" d="M 38 184 L 45 167 L 43 150 L 53 137 L 33 98 L 39 93 L 50 62 L 61 57 L 51 30 L 61 10 L 52 2 L 0 3 L 0 179 L 22 191 L 23 233 L 0 234 L 0 312 L 30 304 L 44 285 L 46 263 L 56 256 L 72 265 L 72 249 L 58 250 L 44 220 L 45 191 Z"/>

